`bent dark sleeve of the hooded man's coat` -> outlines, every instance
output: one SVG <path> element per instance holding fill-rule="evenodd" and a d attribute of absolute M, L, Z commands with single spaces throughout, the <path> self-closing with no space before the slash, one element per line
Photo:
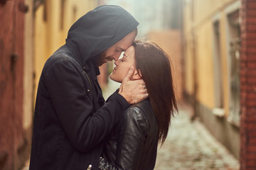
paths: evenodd
<path fill-rule="evenodd" d="M 121 95 L 113 94 L 102 108 L 94 112 L 82 73 L 75 68 L 70 60 L 59 60 L 48 68 L 43 82 L 73 147 L 87 152 L 109 134 L 129 103 Z"/>

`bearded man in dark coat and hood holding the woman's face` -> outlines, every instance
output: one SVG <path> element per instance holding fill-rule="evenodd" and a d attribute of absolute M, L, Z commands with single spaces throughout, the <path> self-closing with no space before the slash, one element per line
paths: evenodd
<path fill-rule="evenodd" d="M 129 104 L 146 98 L 143 81 L 130 81 L 105 103 L 98 66 L 117 60 L 137 35 L 138 22 L 119 6 L 99 6 L 68 31 L 38 84 L 30 170 L 97 169 L 104 138 Z"/>

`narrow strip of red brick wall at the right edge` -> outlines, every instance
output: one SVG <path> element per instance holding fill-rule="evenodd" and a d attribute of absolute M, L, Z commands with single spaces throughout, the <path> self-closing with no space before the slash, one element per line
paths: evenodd
<path fill-rule="evenodd" d="M 242 0 L 240 169 L 256 169 L 256 1 Z"/>

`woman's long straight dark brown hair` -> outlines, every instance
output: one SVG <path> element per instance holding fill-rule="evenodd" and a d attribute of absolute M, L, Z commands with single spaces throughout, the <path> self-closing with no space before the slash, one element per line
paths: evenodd
<path fill-rule="evenodd" d="M 136 40 L 135 64 L 146 84 L 149 101 L 159 125 L 159 143 L 166 140 L 171 116 L 178 111 L 169 56 L 154 42 Z"/>

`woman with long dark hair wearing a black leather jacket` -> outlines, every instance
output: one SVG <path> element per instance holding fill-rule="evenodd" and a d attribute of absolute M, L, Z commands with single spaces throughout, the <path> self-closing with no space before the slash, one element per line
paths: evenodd
<path fill-rule="evenodd" d="M 178 111 L 169 56 L 154 42 L 135 41 L 114 62 L 110 78 L 122 82 L 130 67 L 132 79 L 143 79 L 149 98 L 124 111 L 100 158 L 100 169 L 154 169 L 158 143 L 166 140 L 171 116 Z"/>

